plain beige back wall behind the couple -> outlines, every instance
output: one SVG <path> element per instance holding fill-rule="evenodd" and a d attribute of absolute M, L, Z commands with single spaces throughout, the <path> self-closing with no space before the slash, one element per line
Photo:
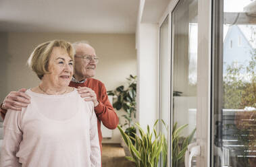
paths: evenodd
<path fill-rule="evenodd" d="M 68 34 L 68 33 L 0 33 L 0 100 L 11 91 L 32 88 L 39 79 L 26 66 L 33 49 L 42 42 L 64 39 L 70 42 L 87 40 L 100 57 L 96 79 L 103 81 L 107 90 L 125 84 L 128 75 L 136 75 L 136 50 L 134 34 Z M 117 112 L 121 118 L 123 113 Z M 122 119 L 121 119 L 122 120 Z M 119 143 L 119 131 L 113 131 L 112 139 L 105 142 Z"/>

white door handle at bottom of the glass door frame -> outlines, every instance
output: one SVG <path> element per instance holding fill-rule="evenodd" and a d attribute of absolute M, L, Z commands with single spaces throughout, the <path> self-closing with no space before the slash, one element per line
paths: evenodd
<path fill-rule="evenodd" d="M 192 166 L 192 158 L 201 155 L 201 147 L 197 143 L 190 143 L 185 154 L 185 167 Z"/>

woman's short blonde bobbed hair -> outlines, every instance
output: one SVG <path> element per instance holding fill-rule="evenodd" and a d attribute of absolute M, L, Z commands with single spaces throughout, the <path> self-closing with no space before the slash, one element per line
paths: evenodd
<path fill-rule="evenodd" d="M 61 47 L 65 49 L 70 58 L 74 61 L 74 48 L 70 42 L 66 42 L 65 40 L 51 40 L 39 44 L 39 46 L 36 46 L 34 49 L 27 62 L 28 67 L 36 73 L 39 79 L 42 79 L 45 73 L 49 73 L 48 65 L 53 47 Z"/>

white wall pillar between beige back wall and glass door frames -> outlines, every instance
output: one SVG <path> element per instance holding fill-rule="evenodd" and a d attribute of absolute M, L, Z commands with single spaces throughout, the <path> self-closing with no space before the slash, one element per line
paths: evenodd
<path fill-rule="evenodd" d="M 140 23 L 137 33 L 137 120 L 146 129 L 158 119 L 158 25 Z"/>

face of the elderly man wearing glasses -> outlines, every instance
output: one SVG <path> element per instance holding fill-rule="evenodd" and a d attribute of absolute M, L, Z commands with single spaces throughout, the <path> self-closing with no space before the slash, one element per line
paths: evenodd
<path fill-rule="evenodd" d="M 93 59 L 88 61 L 83 57 L 96 57 L 95 49 L 87 44 L 76 45 L 74 76 L 78 81 L 95 76 L 97 62 Z"/>

